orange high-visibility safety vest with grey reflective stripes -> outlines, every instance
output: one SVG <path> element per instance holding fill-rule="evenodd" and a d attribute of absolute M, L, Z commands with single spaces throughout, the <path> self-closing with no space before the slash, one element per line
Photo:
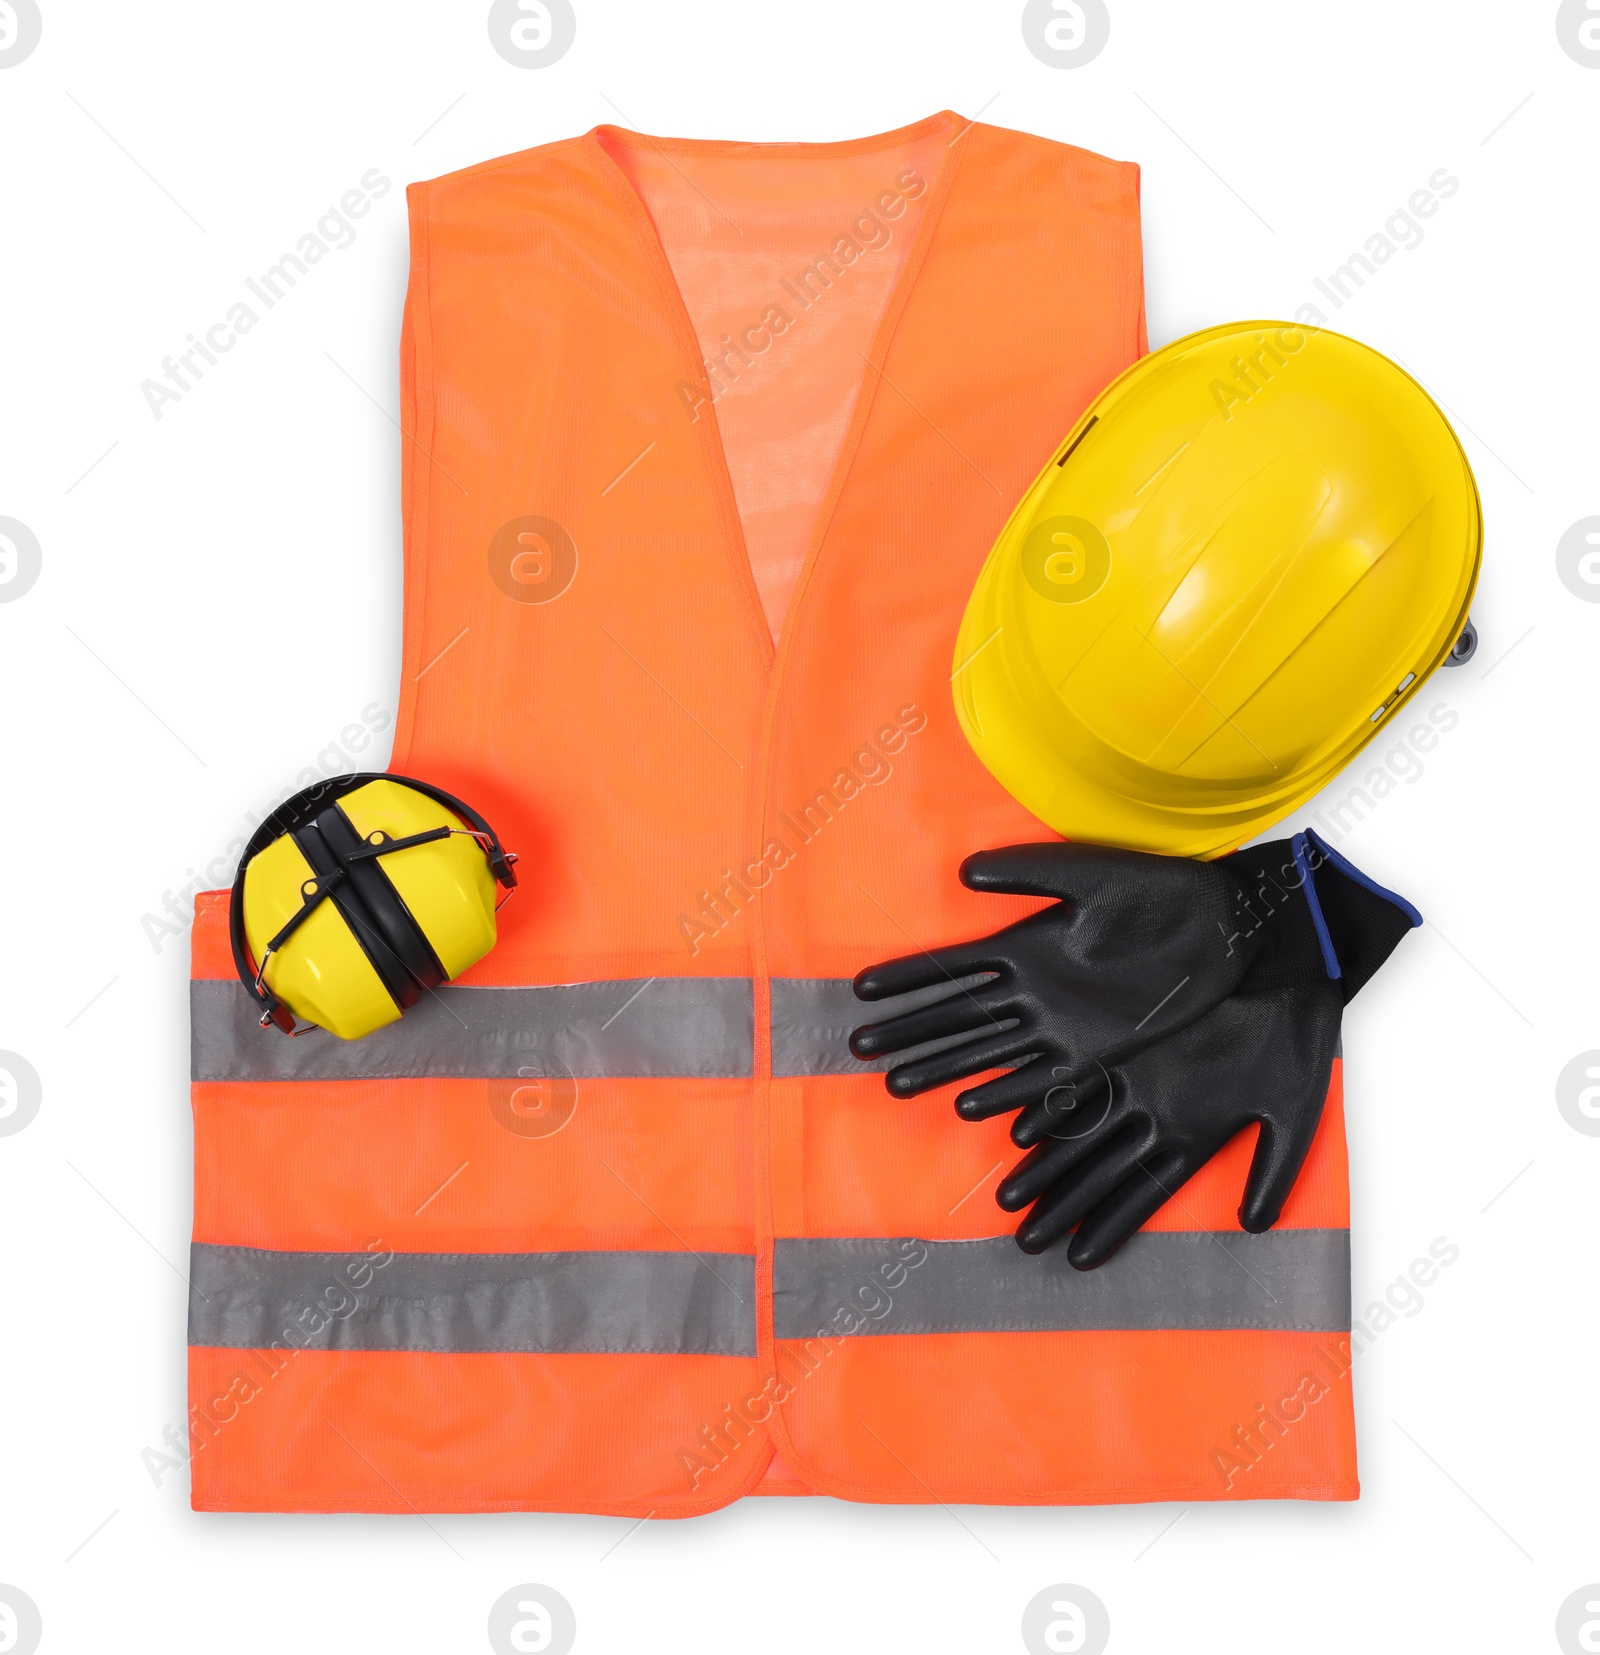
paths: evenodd
<path fill-rule="evenodd" d="M 195 1506 L 1352 1498 L 1337 1074 L 1279 1228 L 1246 1134 L 1079 1274 L 1006 1119 L 846 1048 L 862 967 L 1037 907 L 956 879 L 1051 834 L 951 650 L 1145 349 L 1137 169 L 940 114 L 409 195 L 392 763 L 521 885 L 354 1043 L 261 1031 L 199 899 Z"/>

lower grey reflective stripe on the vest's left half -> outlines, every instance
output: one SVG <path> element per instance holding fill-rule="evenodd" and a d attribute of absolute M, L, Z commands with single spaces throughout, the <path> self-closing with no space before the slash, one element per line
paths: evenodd
<path fill-rule="evenodd" d="M 756 1354 L 743 1253 L 273 1253 L 195 1243 L 189 1342 Z"/>

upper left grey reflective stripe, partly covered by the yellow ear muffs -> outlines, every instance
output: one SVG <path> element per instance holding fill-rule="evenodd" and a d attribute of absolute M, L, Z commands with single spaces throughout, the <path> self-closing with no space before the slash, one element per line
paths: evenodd
<path fill-rule="evenodd" d="M 440 988 L 364 1039 L 258 1026 L 242 983 L 190 986 L 197 1081 L 361 1081 L 410 1076 L 685 1076 L 754 1072 L 746 976 L 657 976 L 556 988 Z"/>

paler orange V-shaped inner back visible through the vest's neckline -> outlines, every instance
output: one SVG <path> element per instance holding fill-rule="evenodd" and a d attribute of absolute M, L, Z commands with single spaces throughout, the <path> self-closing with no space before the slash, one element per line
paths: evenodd
<path fill-rule="evenodd" d="M 702 376 L 678 394 L 693 419 L 715 410 L 774 639 L 953 126 L 850 144 L 599 132 L 695 329 Z"/>

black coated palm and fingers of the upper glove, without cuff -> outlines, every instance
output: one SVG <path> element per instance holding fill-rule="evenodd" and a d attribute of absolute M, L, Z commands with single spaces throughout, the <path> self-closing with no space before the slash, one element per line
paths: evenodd
<path fill-rule="evenodd" d="M 1292 862 L 1289 851 L 1281 841 L 1262 856 Z M 1059 900 L 991 937 L 862 971 L 860 1000 L 994 976 L 855 1029 L 850 1051 L 872 1059 L 989 1031 L 889 1071 L 889 1091 L 915 1097 L 1021 1064 L 961 1092 L 956 1112 L 966 1120 L 1037 1104 L 1061 1081 L 1087 1082 L 1100 1064 L 1186 1028 L 1239 986 L 1264 942 L 1266 914 L 1249 866 L 1236 857 L 1195 862 L 1095 844 L 1018 844 L 970 856 L 960 877 L 970 890 Z"/>

